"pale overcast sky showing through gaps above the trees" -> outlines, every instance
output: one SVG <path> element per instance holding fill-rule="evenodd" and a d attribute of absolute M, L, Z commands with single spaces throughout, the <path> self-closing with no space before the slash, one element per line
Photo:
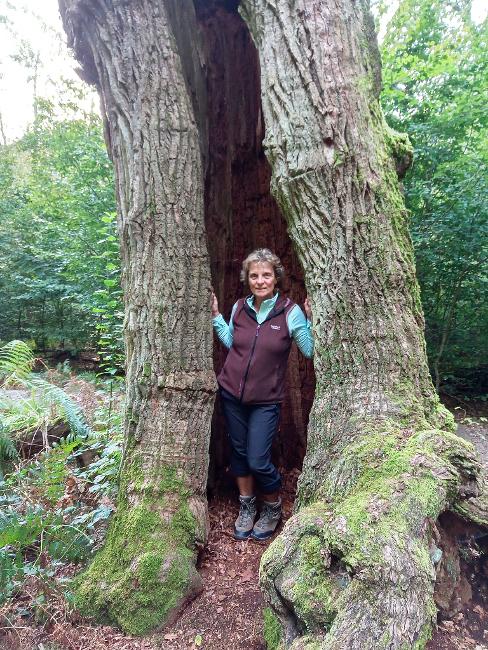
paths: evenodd
<path fill-rule="evenodd" d="M 392 11 L 396 6 L 392 0 Z M 473 18 L 480 21 L 487 13 L 486 0 L 474 0 Z M 61 78 L 76 80 L 76 62 L 70 56 L 57 0 L 0 0 L 0 16 L 9 24 L 0 24 L 0 114 L 8 141 L 20 137 L 33 118 L 33 83 L 25 66 L 12 56 L 21 51 L 22 42 L 38 50 L 42 61 L 38 94 L 54 97 Z M 79 82 L 81 83 L 81 82 Z M 88 106 L 98 107 L 93 91 L 88 91 Z"/>

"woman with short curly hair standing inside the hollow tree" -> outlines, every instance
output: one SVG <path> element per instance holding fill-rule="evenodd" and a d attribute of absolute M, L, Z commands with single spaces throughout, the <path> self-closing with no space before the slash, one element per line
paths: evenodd
<path fill-rule="evenodd" d="M 248 255 L 241 280 L 251 294 L 235 303 L 228 325 L 212 294 L 213 326 L 229 348 L 217 381 L 232 447 L 231 468 L 239 488 L 236 539 L 267 539 L 281 519 L 281 477 L 271 463 L 271 444 L 284 399 L 292 340 L 306 357 L 313 355 L 310 301 L 307 298 L 304 303 L 305 318 L 298 305 L 276 290 L 283 276 L 279 258 L 267 248 Z M 256 523 L 255 483 L 264 495 Z"/>

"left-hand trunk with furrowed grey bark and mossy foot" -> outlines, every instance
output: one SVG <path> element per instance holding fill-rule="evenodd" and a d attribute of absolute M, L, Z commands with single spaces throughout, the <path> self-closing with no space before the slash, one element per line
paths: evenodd
<path fill-rule="evenodd" d="M 78 579 L 76 597 L 85 614 L 144 633 L 201 589 L 195 555 L 207 536 L 216 384 L 205 133 L 197 124 L 203 110 L 195 110 L 205 93 L 197 43 L 186 47 L 196 32 L 194 10 L 189 0 L 60 0 L 60 8 L 105 113 L 126 313 L 120 496 L 106 544 Z"/>

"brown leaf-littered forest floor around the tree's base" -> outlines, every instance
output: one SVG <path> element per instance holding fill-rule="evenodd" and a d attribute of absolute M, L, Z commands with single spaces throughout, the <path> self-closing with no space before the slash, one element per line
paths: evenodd
<path fill-rule="evenodd" d="M 454 413 L 460 422 L 459 434 L 471 440 L 488 463 L 488 426 L 479 420 L 480 413 L 464 407 Z M 297 475 L 286 475 L 284 520 L 292 513 Z M 204 589 L 170 629 L 144 639 L 126 636 L 80 619 L 55 595 L 44 620 L 37 625 L 26 623 L 19 614 L 22 600 L 35 597 L 35 589 L 29 594 L 27 588 L 8 610 L 3 607 L 0 612 L 0 650 L 265 650 L 258 569 L 269 542 L 233 539 L 234 495 L 220 494 L 209 506 L 210 539 L 199 561 Z M 478 572 L 468 570 L 473 599 L 452 619 L 438 622 L 428 650 L 488 650 L 487 576 L 486 558 L 484 572 L 479 572 L 479 565 Z"/>

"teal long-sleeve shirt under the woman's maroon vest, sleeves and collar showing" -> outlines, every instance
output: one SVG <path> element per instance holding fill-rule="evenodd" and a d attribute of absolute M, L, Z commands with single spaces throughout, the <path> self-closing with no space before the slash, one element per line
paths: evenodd
<path fill-rule="evenodd" d="M 276 294 L 273 298 L 263 300 L 259 311 L 256 311 L 254 307 L 254 296 L 249 296 L 247 298 L 247 304 L 256 312 L 256 320 L 259 324 L 266 320 L 269 312 L 275 306 L 278 295 L 279 294 Z M 232 307 L 232 313 L 228 325 L 222 314 L 212 318 L 215 333 L 226 348 L 232 347 L 234 341 L 234 314 L 236 309 L 237 303 Z M 304 357 L 307 357 L 307 359 L 311 359 L 313 356 L 312 324 L 307 318 L 305 318 L 305 314 L 298 305 L 295 305 L 288 312 L 286 322 L 290 336 L 298 345 L 300 352 Z"/>

